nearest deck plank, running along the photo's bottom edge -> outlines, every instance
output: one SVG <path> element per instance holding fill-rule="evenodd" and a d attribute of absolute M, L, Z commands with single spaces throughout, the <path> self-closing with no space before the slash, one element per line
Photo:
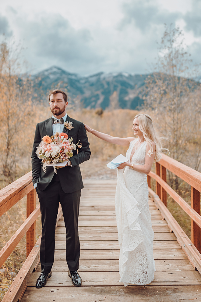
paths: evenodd
<path fill-rule="evenodd" d="M 42 294 L 41 294 L 42 291 Z M 81 286 L 50 288 L 41 290 L 27 287 L 21 302 L 201 302 L 200 286 Z M 29 297 L 29 298 L 26 298 Z M 105 299 L 105 300 L 104 300 Z M 196 299 L 196 300 L 190 300 Z"/>

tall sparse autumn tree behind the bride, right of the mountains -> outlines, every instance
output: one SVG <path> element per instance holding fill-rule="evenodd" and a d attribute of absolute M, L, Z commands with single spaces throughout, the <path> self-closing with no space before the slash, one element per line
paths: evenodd
<path fill-rule="evenodd" d="M 170 133 L 170 156 L 198 170 L 201 158 L 201 89 L 198 66 L 185 50 L 179 27 L 166 27 L 154 72 L 146 79 L 144 108 L 151 110 L 163 134 Z"/>

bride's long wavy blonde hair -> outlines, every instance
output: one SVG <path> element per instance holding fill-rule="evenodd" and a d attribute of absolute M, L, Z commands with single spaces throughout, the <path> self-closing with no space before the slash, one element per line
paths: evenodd
<path fill-rule="evenodd" d="M 162 157 L 161 151 L 164 150 L 164 148 L 162 148 L 161 138 L 153 127 L 152 117 L 150 117 L 148 114 L 142 113 L 137 114 L 134 118 L 138 118 L 139 130 L 142 132 L 147 145 L 150 147 L 150 150 L 147 154 L 149 156 L 151 156 L 151 154 L 155 154 L 154 161 L 159 161 Z M 153 152 L 152 142 L 154 142 L 156 146 L 155 153 Z"/>

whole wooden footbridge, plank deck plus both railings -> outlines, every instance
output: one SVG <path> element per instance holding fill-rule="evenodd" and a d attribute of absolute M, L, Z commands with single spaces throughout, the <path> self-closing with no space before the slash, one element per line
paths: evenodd
<path fill-rule="evenodd" d="M 166 183 L 166 169 L 191 185 L 191 207 Z M 59 209 L 56 228 L 55 261 L 52 277 L 42 289 L 35 288 L 41 272 L 40 238 L 35 242 L 36 196 L 30 172 L 0 191 L 0 215 L 27 195 L 27 219 L 0 251 L 2 266 L 12 250 L 27 234 L 27 259 L 5 294 L 3 302 L 201 302 L 200 192 L 201 173 L 163 155 L 156 164 L 156 192 L 149 188 L 149 207 L 154 231 L 154 280 L 147 286 L 124 287 L 119 282 L 118 235 L 115 218 L 114 180 L 85 180 L 79 214 L 81 287 L 74 287 L 65 261 L 65 227 Z M 192 241 L 166 207 L 167 193 L 192 219 Z"/>

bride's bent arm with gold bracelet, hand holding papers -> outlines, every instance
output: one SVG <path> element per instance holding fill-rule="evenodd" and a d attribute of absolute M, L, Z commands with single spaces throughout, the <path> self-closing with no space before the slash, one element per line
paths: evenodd
<path fill-rule="evenodd" d="M 155 144 L 154 142 L 152 142 L 153 144 L 153 150 L 155 150 Z M 129 166 L 129 167 L 132 167 L 133 170 L 135 171 L 138 171 L 138 172 L 141 172 L 141 173 L 145 173 L 145 174 L 149 174 L 149 172 L 151 171 L 151 168 L 153 166 L 153 160 L 154 160 L 154 156 L 155 154 L 151 154 L 151 156 L 149 156 L 147 154 L 147 152 L 149 152 L 149 146 L 147 145 L 147 150 L 146 150 L 146 155 L 145 155 L 145 164 L 144 166 L 141 166 L 141 165 L 133 165 L 129 162 L 126 162 L 126 163 L 123 163 L 123 164 L 120 164 L 118 169 L 123 169 L 125 166 Z"/>

